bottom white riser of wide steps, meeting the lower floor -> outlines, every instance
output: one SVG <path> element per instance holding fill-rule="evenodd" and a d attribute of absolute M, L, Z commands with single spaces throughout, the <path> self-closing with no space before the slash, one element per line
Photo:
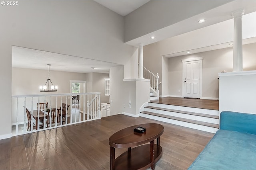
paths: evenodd
<path fill-rule="evenodd" d="M 144 114 L 144 113 L 140 113 L 140 116 L 141 117 L 146 117 L 146 118 L 149 118 L 149 119 L 158 120 L 158 121 L 163 121 L 163 122 L 166 122 L 166 123 L 172 123 L 174 125 L 189 127 L 189 128 L 197 129 L 197 130 L 200 130 L 200 131 L 206 131 L 206 132 L 210 132 L 210 133 L 216 133 L 216 131 L 218 131 L 218 129 L 214 128 L 214 127 L 197 125 L 197 124 L 193 124 L 193 123 L 177 121 L 177 120 L 173 120 L 173 119 L 158 117 L 158 116 L 154 116 L 154 115 L 148 115 L 148 114 Z"/>

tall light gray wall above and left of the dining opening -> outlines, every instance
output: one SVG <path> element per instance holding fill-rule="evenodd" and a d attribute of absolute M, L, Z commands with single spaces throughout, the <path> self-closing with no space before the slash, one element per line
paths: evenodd
<path fill-rule="evenodd" d="M 93 0 L 22 0 L 0 16 L 0 139 L 11 136 L 12 45 L 118 64 L 136 51 L 124 44 L 124 18 Z"/>

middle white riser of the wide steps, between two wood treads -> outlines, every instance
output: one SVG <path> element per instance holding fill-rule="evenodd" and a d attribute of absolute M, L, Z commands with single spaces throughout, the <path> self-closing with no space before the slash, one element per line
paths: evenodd
<path fill-rule="evenodd" d="M 210 118 L 210 117 L 202 117 L 202 116 L 197 116 L 197 115 L 189 115 L 189 114 L 184 114 L 184 113 L 177 113 L 177 112 L 172 112 L 172 111 L 150 109 L 150 108 L 144 108 L 144 110 L 145 111 L 150 111 L 150 112 L 153 112 L 153 113 L 159 113 L 159 114 L 162 114 L 162 115 L 170 115 L 170 116 L 181 117 L 181 118 L 185 118 L 185 119 L 191 119 L 191 120 L 197 120 L 197 121 L 219 124 L 219 119 L 214 119 L 214 118 Z"/>

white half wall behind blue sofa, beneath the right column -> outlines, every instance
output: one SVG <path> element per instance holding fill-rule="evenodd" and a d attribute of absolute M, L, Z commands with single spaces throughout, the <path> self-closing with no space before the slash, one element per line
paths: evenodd
<path fill-rule="evenodd" d="M 256 114 L 256 71 L 220 73 L 219 111 Z"/>

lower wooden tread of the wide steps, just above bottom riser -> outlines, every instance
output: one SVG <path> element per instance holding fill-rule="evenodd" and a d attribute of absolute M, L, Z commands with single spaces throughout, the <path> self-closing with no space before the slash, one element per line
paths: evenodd
<path fill-rule="evenodd" d="M 158 117 L 164 117 L 164 118 L 178 120 L 178 121 L 184 121 L 184 122 L 193 123 L 193 124 L 197 124 L 197 125 L 219 128 L 219 125 L 214 124 L 214 123 L 207 123 L 207 122 L 203 122 L 203 121 L 185 119 L 185 118 L 175 117 L 175 116 L 170 116 L 170 115 L 163 115 L 163 114 L 159 114 L 159 113 L 153 113 L 153 112 L 150 112 L 150 111 L 142 111 L 140 113 L 144 113 L 144 114 L 148 114 L 148 115 L 154 115 L 154 116 L 158 116 Z"/>

